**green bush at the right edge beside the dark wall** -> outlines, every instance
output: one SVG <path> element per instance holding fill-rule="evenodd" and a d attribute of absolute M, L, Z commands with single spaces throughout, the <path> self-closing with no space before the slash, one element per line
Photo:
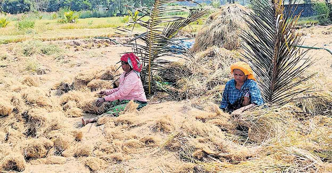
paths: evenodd
<path fill-rule="evenodd" d="M 313 4 L 313 9 L 318 15 L 318 21 L 320 25 L 329 25 L 331 24 L 330 18 L 330 8 L 325 2 L 316 2 Z"/>

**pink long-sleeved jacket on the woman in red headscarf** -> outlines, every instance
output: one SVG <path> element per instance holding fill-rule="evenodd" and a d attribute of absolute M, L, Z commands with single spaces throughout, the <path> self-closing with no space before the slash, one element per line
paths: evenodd
<path fill-rule="evenodd" d="M 118 88 L 106 90 L 105 101 L 114 100 L 138 100 L 146 102 L 146 96 L 143 84 L 138 75 L 131 71 L 125 76 L 125 72 L 120 76 L 120 85 Z"/>

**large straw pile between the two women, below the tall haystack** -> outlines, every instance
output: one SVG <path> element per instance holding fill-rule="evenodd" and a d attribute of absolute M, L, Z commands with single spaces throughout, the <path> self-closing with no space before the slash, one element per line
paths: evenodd
<path fill-rule="evenodd" d="M 224 85 L 230 79 L 230 65 L 237 61 L 238 52 L 216 46 L 197 53 L 192 61 L 172 62 L 160 73 L 163 80 L 175 83 L 180 99 L 201 97 L 221 101 Z"/>

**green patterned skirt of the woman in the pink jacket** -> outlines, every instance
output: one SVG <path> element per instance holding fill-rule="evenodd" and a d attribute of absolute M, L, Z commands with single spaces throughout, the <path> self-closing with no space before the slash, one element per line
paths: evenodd
<path fill-rule="evenodd" d="M 104 111 L 101 112 L 101 116 L 104 115 L 110 115 L 110 116 L 115 116 L 118 117 L 119 113 L 124 111 L 124 108 L 127 106 L 127 104 L 130 102 L 130 100 L 115 100 L 112 102 L 105 102 L 104 104 Z M 134 100 L 135 103 L 138 103 L 137 110 L 142 109 L 144 106 L 147 105 L 147 102 L 142 102 L 138 100 Z"/>

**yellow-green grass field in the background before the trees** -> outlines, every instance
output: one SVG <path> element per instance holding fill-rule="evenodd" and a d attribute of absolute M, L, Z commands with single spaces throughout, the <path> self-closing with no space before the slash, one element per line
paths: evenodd
<path fill-rule="evenodd" d="M 1 16 L 0 16 L 1 17 Z M 4 16 L 2 16 L 4 17 Z M 116 27 L 123 26 L 124 17 L 107 17 L 107 18 L 86 18 L 78 19 L 77 23 L 60 24 L 57 19 L 36 19 L 28 18 L 27 20 L 35 21 L 34 28 L 19 30 L 18 21 L 10 21 L 5 28 L 0 28 L 0 44 L 17 43 L 28 40 L 54 41 L 83 39 L 93 37 L 112 37 L 115 35 Z M 16 19 L 11 17 L 11 19 Z M 197 32 L 203 22 L 193 23 L 190 27 L 184 29 L 185 32 Z M 142 30 L 141 28 L 136 28 Z"/>

